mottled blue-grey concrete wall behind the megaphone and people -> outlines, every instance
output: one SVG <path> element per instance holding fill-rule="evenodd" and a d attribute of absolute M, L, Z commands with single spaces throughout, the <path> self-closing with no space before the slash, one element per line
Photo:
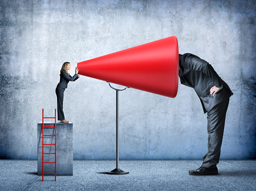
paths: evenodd
<path fill-rule="evenodd" d="M 221 159 L 255 159 L 255 1 L 0 1 L 0 158 L 36 159 L 42 108 L 53 116 L 61 65 L 169 36 L 212 64 L 230 98 Z M 176 98 L 127 89 L 120 99 L 121 159 L 201 159 L 206 114 L 193 89 Z M 115 159 L 115 91 L 69 82 L 74 159 Z"/>

